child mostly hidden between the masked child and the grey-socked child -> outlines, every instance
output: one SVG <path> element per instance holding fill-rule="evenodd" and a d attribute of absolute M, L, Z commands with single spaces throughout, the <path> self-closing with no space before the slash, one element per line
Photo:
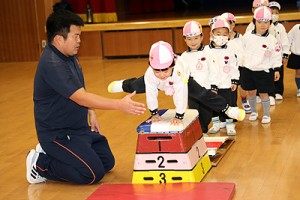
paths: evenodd
<path fill-rule="evenodd" d="M 228 42 L 228 46 L 230 46 L 231 48 L 233 48 L 234 53 L 237 57 L 237 60 L 239 60 L 241 58 L 240 52 L 241 52 L 241 48 L 242 48 L 242 37 L 243 35 L 237 31 L 234 30 L 235 28 L 235 16 L 232 13 L 223 13 L 221 15 L 221 17 L 225 18 L 230 26 L 230 40 Z M 239 65 L 239 71 L 241 70 L 241 66 Z M 242 106 L 245 110 L 246 113 L 250 113 L 251 112 L 251 108 L 250 105 L 248 103 L 248 99 L 247 99 L 247 92 L 242 88 L 238 86 L 238 89 L 233 91 L 232 94 L 232 103 L 233 105 L 237 105 L 237 91 L 239 91 L 239 94 L 241 96 L 241 101 L 242 101 Z"/>

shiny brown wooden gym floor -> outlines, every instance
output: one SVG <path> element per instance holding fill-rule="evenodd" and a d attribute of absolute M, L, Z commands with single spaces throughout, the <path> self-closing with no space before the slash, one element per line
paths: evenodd
<path fill-rule="evenodd" d="M 142 75 L 147 59 L 81 60 L 87 90 L 112 98 L 108 84 L 117 79 Z M 35 148 L 33 119 L 33 77 L 37 62 L 0 63 L 0 199 L 56 200 L 86 199 L 99 184 L 82 186 L 49 181 L 30 185 L 25 177 L 25 157 Z M 160 94 L 160 108 L 173 108 L 172 99 Z M 134 100 L 145 103 L 145 95 Z M 284 100 L 271 107 L 272 122 L 236 124 L 236 142 L 203 179 L 204 182 L 233 182 L 235 200 L 300 199 L 300 98 L 296 98 L 294 71 L 285 69 Z M 136 127 L 149 117 L 146 112 L 132 116 L 121 111 L 97 111 L 101 131 L 116 157 L 115 168 L 101 183 L 131 183 L 136 147 Z M 261 119 L 261 110 L 259 113 Z M 225 133 L 221 133 L 224 135 Z"/>

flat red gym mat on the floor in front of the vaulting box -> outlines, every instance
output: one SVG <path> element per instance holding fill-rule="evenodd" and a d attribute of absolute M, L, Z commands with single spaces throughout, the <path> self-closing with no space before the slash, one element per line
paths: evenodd
<path fill-rule="evenodd" d="M 229 200 L 234 183 L 103 184 L 88 200 Z"/>

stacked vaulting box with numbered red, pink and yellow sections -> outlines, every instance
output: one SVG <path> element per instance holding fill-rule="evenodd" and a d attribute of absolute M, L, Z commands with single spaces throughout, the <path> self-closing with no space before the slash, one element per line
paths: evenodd
<path fill-rule="evenodd" d="M 143 122 L 137 128 L 139 137 L 132 183 L 200 182 L 212 165 L 198 120 L 198 111 L 186 110 L 183 124 L 178 127 L 169 124 L 170 119 L 175 116 L 174 109 L 160 110 L 159 113 L 161 122 Z M 157 151 L 157 145 L 151 145 L 152 141 L 145 139 L 149 135 L 169 136 L 168 143 L 160 144 L 169 151 Z M 148 146 L 148 151 L 142 151 L 141 144 Z"/>

